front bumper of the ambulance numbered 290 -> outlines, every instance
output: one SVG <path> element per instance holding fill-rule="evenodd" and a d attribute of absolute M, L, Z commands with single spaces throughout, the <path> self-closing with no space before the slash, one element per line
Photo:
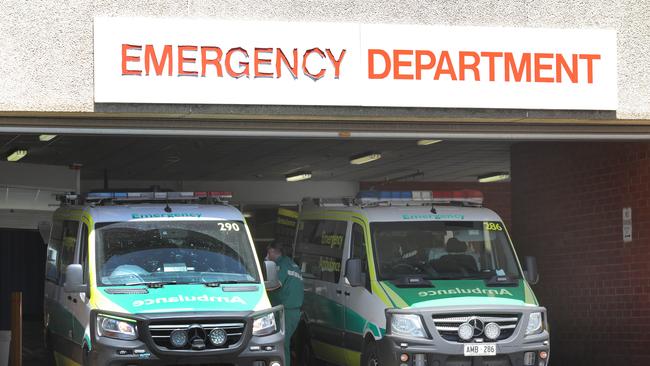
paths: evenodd
<path fill-rule="evenodd" d="M 93 311 L 96 312 L 96 311 Z M 106 312 L 102 312 L 106 314 Z M 109 314 L 117 315 L 117 314 Z M 125 315 L 121 315 L 126 317 Z M 254 313 L 236 314 L 239 319 L 246 322 L 245 334 L 237 345 L 227 349 L 206 350 L 169 350 L 156 345 L 146 331 L 147 322 L 152 319 L 161 320 L 165 317 L 187 317 L 191 319 L 194 314 L 147 314 L 146 316 L 132 316 L 138 321 L 140 331 L 139 339 L 125 341 L 107 337 L 97 337 L 94 331 L 95 314 L 91 315 L 91 342 L 92 347 L 88 353 L 88 364 L 98 366 L 121 365 L 236 365 L 236 366 L 271 366 L 274 362 L 284 366 L 284 325 L 280 322 L 280 330 L 267 336 L 252 335 L 252 319 Z M 221 319 L 224 313 L 201 313 L 201 318 L 211 317 Z M 232 317 L 232 313 L 227 314 Z"/>

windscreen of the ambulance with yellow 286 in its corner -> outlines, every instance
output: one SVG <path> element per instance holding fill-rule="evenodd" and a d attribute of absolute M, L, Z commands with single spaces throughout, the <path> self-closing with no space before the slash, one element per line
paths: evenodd
<path fill-rule="evenodd" d="M 376 222 L 370 228 L 379 280 L 521 278 L 500 222 Z"/>

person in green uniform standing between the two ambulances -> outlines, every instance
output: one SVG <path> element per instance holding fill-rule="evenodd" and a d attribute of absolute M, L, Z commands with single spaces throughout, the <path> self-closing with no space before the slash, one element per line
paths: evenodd
<path fill-rule="evenodd" d="M 285 365 L 291 365 L 291 336 L 298 328 L 300 308 L 304 297 L 304 285 L 300 267 L 283 255 L 282 246 L 276 242 L 269 245 L 266 251 L 268 260 L 278 265 L 280 286 L 267 289 L 269 300 L 273 306 L 284 305 L 284 356 Z"/>

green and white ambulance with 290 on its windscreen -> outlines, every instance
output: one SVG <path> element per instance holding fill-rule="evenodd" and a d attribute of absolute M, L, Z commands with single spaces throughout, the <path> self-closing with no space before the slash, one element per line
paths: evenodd
<path fill-rule="evenodd" d="M 45 270 L 56 364 L 284 365 L 282 308 L 265 292 L 277 269 L 260 266 L 229 195 L 66 196 Z"/>

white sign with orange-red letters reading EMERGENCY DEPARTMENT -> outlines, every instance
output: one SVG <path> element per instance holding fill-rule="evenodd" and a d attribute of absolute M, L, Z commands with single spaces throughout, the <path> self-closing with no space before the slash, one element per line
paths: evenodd
<path fill-rule="evenodd" d="M 95 102 L 615 110 L 616 32 L 96 18 Z"/>

